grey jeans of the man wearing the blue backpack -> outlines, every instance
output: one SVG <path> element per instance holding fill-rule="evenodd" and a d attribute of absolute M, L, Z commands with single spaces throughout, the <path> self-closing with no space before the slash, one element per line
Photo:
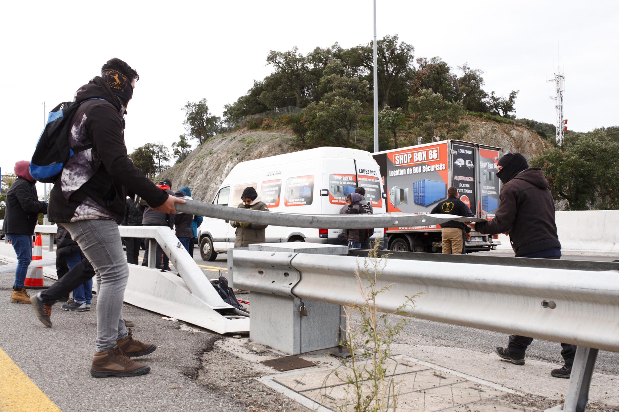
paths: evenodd
<path fill-rule="evenodd" d="M 123 253 L 118 225 L 113 220 L 80 220 L 63 223 L 71 238 L 92 264 L 97 277 L 97 341 L 103 352 L 128 335 L 123 320 L 124 289 L 129 267 Z"/>

